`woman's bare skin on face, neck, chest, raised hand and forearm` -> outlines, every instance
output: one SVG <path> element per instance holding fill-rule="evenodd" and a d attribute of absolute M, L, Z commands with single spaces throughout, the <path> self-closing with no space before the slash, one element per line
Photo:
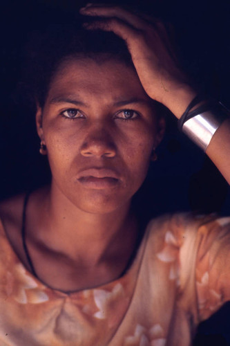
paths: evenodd
<path fill-rule="evenodd" d="M 126 41 L 136 73 L 111 60 L 100 66 L 88 59 L 66 62 L 52 80 L 44 109 L 37 110 L 37 131 L 47 146 L 52 184 L 30 197 L 27 244 L 41 280 L 66 292 L 110 282 L 124 270 L 138 234 L 129 209 L 131 197 L 164 132 L 151 100 L 180 118 L 196 95 L 161 23 L 101 4 L 86 6 L 82 14 L 96 17 L 86 24 L 88 30 L 113 31 Z M 144 102 L 116 104 L 131 98 Z M 79 109 L 79 118 L 63 118 L 68 109 Z M 124 121 L 120 116 L 126 109 L 139 116 Z M 215 132 L 207 154 L 230 183 L 229 120 Z M 89 167 L 97 174 L 108 169 L 115 176 L 84 176 L 82 183 L 81 171 Z M 30 269 L 21 246 L 22 204 L 23 197 L 4 202 L 0 215 L 12 246 Z"/>

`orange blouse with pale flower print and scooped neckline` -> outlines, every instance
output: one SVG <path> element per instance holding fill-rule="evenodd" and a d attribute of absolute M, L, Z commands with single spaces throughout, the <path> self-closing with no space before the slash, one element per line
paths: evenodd
<path fill-rule="evenodd" d="M 153 219 L 122 277 L 69 294 L 26 270 L 0 224 L 1 346 L 191 345 L 229 299 L 229 217 Z"/>

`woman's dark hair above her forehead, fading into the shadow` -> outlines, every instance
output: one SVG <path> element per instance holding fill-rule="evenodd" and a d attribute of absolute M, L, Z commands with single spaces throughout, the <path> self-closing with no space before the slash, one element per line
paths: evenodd
<path fill-rule="evenodd" d="M 102 30 L 85 30 L 79 23 L 78 26 L 50 26 L 44 32 L 33 33 L 25 51 L 22 84 L 30 100 L 37 100 L 41 107 L 52 76 L 69 57 L 90 57 L 99 63 L 113 58 L 134 69 L 123 39 Z"/>

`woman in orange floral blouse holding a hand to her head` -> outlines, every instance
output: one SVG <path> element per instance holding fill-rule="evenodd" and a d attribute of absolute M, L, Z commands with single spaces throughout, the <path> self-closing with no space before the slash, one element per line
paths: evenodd
<path fill-rule="evenodd" d="M 37 89 L 52 181 L 1 203 L 1 345 L 189 345 L 229 299 L 230 220 L 175 215 L 145 228 L 131 199 L 164 134 L 154 100 L 179 119 L 197 91 L 162 24 L 113 6 L 81 13 L 100 17 L 87 30 L 124 39 L 132 63 L 127 52 L 61 52 Z M 197 109 L 215 125 L 202 147 L 230 182 L 229 119 L 205 98 Z"/>

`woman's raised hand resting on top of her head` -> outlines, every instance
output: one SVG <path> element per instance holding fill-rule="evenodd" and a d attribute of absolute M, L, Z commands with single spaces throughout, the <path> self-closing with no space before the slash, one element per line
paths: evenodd
<path fill-rule="evenodd" d="M 178 65 L 164 25 L 118 6 L 88 4 L 80 12 L 99 17 L 85 28 L 113 31 L 124 39 L 148 96 L 180 118 L 196 92 Z"/>

